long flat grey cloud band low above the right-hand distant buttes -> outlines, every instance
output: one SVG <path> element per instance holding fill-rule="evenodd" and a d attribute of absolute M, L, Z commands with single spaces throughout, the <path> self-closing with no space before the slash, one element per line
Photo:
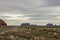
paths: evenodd
<path fill-rule="evenodd" d="M 31 15 L 31 16 L 27 16 L 27 17 L 31 17 L 30 20 L 52 20 L 52 19 L 56 19 L 58 15 Z"/>

